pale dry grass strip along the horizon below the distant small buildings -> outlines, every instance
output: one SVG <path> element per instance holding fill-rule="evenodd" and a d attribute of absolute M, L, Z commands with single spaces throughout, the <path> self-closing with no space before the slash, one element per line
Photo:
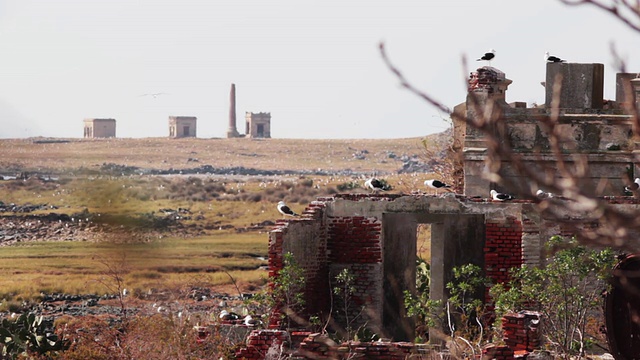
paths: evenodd
<path fill-rule="evenodd" d="M 435 137 L 434 137 L 435 139 Z M 360 160 L 354 154 L 366 150 Z M 104 163 L 154 169 L 211 165 L 261 170 L 393 172 L 390 153 L 422 155 L 422 138 L 406 139 L 8 139 L 0 140 L 0 171 L 97 168 Z"/>

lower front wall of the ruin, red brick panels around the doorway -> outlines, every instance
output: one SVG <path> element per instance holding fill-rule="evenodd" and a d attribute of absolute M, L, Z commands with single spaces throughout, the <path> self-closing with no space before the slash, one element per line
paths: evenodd
<path fill-rule="evenodd" d="M 522 204 L 455 196 L 320 198 L 302 218 L 281 220 L 270 233 L 270 275 L 276 276 L 284 254 L 292 253 L 307 279 L 303 317 L 331 314 L 344 327 L 344 309 L 334 304 L 331 313 L 331 303 L 335 276 L 346 268 L 356 276 L 349 309 L 355 321 L 349 325 L 412 340 L 414 324 L 405 316 L 403 294 L 415 291 L 417 225 L 432 224 L 431 296 L 446 299 L 456 266 L 475 263 L 496 281 L 508 280 L 508 269 L 524 259 L 522 216 Z"/>

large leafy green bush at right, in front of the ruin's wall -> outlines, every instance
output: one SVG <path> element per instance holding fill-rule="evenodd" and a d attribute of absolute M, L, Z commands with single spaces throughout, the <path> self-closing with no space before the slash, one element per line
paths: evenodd
<path fill-rule="evenodd" d="M 552 255 L 544 268 L 514 269 L 507 286 L 491 289 L 497 318 L 507 311 L 540 311 L 549 346 L 558 354 L 583 356 L 591 339 L 598 337 L 588 325 L 603 318 L 601 294 L 608 287 L 615 256 L 610 249 L 587 249 L 560 236 L 552 237 L 547 249 Z"/>

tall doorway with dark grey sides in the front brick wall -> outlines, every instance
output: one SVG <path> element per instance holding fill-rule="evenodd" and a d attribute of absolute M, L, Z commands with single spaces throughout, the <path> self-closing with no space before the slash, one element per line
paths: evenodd
<path fill-rule="evenodd" d="M 416 323 L 407 316 L 404 297 L 405 292 L 417 294 L 417 260 L 430 265 L 429 299 L 446 301 L 446 284 L 453 280 L 454 267 L 484 268 L 484 215 L 387 213 L 383 214 L 383 237 L 384 336 L 414 341 Z"/>

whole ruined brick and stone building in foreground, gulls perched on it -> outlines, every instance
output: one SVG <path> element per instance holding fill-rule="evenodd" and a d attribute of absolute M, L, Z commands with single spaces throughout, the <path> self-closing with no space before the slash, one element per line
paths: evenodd
<path fill-rule="evenodd" d="M 411 341 L 415 324 L 405 316 L 403 292 L 415 291 L 418 224 L 431 224 L 432 299 L 447 298 L 445 285 L 456 266 L 479 265 L 494 281 L 503 282 L 512 267 L 543 264 L 544 242 L 552 235 L 569 235 L 571 227 L 555 216 L 546 216 L 533 199 L 491 201 L 491 189 L 524 194 L 535 194 L 536 189 L 527 186 L 527 179 L 521 178 L 513 164 L 501 164 L 499 173 L 504 182 L 500 184 L 483 176 L 489 153 L 485 135 L 466 124 L 483 116 L 478 114 L 478 104 L 491 101 L 498 105 L 493 111 L 504 141 L 521 156 L 524 166 L 535 168 L 555 161 L 541 124 L 550 116 L 558 73 L 564 75 L 564 82 L 557 96 L 557 129 L 576 140 L 562 145 L 561 156 L 574 163 L 572 154 L 580 153 L 591 166 L 581 185 L 592 187 L 613 207 L 637 211 L 639 202 L 622 193 L 624 175 L 640 176 L 635 161 L 640 148 L 631 131 L 633 119 L 623 106 L 640 104 L 636 74 L 618 74 L 618 101 L 606 102 L 601 64 L 547 64 L 546 104 L 527 108 L 522 103 L 507 104 L 505 95 L 511 80 L 495 68 L 483 67 L 469 79 L 473 98 L 455 110 L 464 119 L 454 121 L 454 147 L 461 159 L 459 174 L 463 174 L 458 194 L 319 198 L 309 204 L 303 217 L 281 220 L 271 231 L 270 275 L 277 275 L 284 254 L 292 253 L 305 270 L 305 315 L 326 317 L 331 311 L 332 282 L 347 268 L 357 278 L 355 301 L 366 309 L 355 325 L 395 341 Z M 598 220 L 590 213 L 562 216 L 569 223 L 573 221 L 572 226 L 588 226 Z M 639 244 L 630 245 L 640 248 Z M 338 316 L 336 320 L 344 319 Z"/>

